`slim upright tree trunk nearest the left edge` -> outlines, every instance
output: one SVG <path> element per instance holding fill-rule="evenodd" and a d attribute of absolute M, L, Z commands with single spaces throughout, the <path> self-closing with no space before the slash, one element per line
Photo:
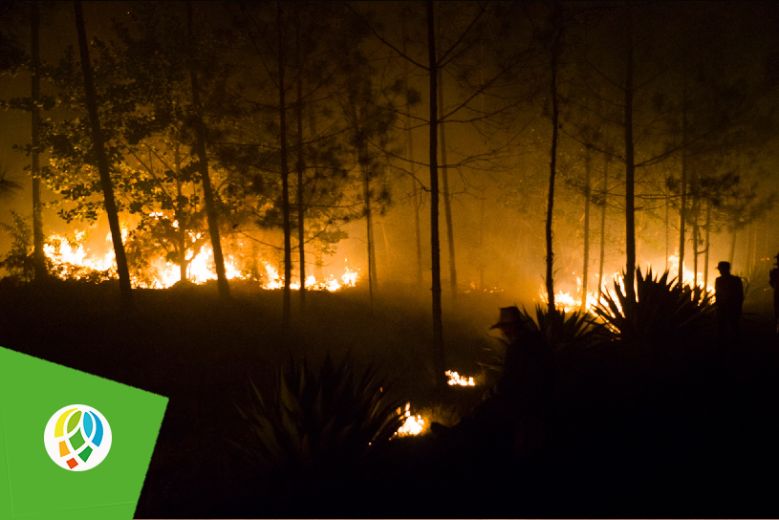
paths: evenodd
<path fill-rule="evenodd" d="M 30 114 L 32 118 L 32 147 L 31 147 L 31 173 L 32 173 L 32 237 L 33 237 L 33 267 L 35 280 L 46 278 L 46 257 L 43 254 L 43 206 L 41 204 L 41 178 L 40 178 L 40 47 L 38 37 L 38 2 L 30 2 L 30 49 L 32 58 Z"/>

